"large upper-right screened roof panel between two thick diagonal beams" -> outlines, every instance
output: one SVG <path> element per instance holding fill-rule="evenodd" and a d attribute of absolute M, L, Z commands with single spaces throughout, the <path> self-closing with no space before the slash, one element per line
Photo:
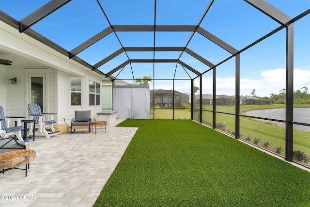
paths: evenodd
<path fill-rule="evenodd" d="M 215 1 L 201 27 L 240 50 L 280 24 L 243 0 Z"/>

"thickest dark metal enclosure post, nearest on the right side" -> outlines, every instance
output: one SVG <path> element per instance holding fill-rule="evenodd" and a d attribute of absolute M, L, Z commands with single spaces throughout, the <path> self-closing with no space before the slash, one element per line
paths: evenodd
<path fill-rule="evenodd" d="M 294 24 L 286 28 L 285 159 L 293 160 Z"/>

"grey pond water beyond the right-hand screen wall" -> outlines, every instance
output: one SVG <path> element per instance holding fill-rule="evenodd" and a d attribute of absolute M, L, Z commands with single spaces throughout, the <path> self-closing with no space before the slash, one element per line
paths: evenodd
<path fill-rule="evenodd" d="M 253 111 L 246 111 L 242 113 L 243 115 L 248 116 L 257 116 L 262 118 L 269 118 L 269 119 L 279 119 L 285 120 L 285 109 L 265 109 L 265 110 L 253 110 Z M 257 119 L 264 122 L 272 122 L 276 123 L 279 127 L 285 127 L 285 123 L 282 122 L 273 122 L 267 121 L 263 119 Z M 310 108 L 294 108 L 294 122 L 301 122 L 301 123 L 310 123 Z M 301 126 L 301 125 L 294 125 L 294 128 L 299 130 L 310 131 L 310 127 Z"/>

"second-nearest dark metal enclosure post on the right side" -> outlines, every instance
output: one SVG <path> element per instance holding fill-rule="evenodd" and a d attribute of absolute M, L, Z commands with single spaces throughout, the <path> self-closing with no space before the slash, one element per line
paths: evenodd
<path fill-rule="evenodd" d="M 235 138 L 240 138 L 240 54 L 236 55 Z"/>

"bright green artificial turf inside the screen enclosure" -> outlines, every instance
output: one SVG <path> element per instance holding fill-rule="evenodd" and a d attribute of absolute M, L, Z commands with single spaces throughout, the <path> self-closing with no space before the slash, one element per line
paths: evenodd
<path fill-rule="evenodd" d="M 310 173 L 190 120 L 139 127 L 95 207 L 309 206 Z"/>

